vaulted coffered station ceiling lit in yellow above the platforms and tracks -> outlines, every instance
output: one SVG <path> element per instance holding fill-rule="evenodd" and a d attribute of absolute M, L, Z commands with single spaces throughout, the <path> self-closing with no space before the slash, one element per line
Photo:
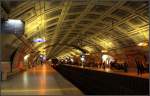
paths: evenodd
<path fill-rule="evenodd" d="M 25 38 L 48 57 L 111 50 L 148 41 L 148 0 L 3 1 L 8 18 L 25 21 Z M 35 43 L 36 38 L 46 42 Z M 77 49 L 78 49 L 77 48 Z"/>

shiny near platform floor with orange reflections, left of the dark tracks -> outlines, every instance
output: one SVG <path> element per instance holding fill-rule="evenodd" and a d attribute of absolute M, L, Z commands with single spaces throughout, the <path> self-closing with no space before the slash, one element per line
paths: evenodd
<path fill-rule="evenodd" d="M 2 82 L 1 95 L 82 95 L 48 65 L 41 65 Z"/>

